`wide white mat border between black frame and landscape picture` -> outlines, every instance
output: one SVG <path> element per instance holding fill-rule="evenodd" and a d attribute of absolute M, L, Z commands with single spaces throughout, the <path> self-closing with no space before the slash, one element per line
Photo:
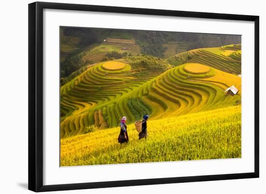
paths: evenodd
<path fill-rule="evenodd" d="M 92 18 L 97 18 L 93 20 Z M 147 25 L 149 24 L 149 25 Z M 160 25 L 158 25 L 160 24 Z M 242 35 L 242 158 L 59 168 L 59 26 Z M 252 172 L 254 25 L 252 22 L 83 11 L 44 11 L 44 184 L 152 179 Z M 249 55 L 245 55 L 249 53 Z M 58 98 L 55 98 L 58 97 Z M 156 168 L 156 171 L 154 171 Z M 127 172 L 118 174 L 117 172 Z M 93 176 L 88 176 L 93 175 Z"/>

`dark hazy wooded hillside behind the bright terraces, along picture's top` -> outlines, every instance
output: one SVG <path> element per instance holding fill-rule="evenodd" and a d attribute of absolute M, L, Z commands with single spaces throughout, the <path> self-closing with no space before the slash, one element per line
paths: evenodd
<path fill-rule="evenodd" d="M 166 59 L 196 48 L 239 43 L 240 36 L 229 34 L 60 27 L 60 77 L 84 65 L 126 55 Z"/>

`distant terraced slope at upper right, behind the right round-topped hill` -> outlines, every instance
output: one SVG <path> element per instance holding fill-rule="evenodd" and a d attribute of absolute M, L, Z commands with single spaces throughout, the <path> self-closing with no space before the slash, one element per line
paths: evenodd
<path fill-rule="evenodd" d="M 174 65 L 201 63 L 230 74 L 241 75 L 241 45 L 194 49 L 170 57 L 168 62 Z"/>

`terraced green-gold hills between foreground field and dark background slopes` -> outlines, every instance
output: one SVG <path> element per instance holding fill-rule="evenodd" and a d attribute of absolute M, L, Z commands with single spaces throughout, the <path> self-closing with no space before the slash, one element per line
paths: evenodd
<path fill-rule="evenodd" d="M 241 104 L 237 74 L 241 45 L 196 49 L 168 60 L 127 56 L 85 66 L 60 89 L 60 136 L 117 127 L 125 115 L 131 123 L 147 113 L 162 119 Z M 231 85 L 240 89 L 235 96 L 224 93 Z"/>

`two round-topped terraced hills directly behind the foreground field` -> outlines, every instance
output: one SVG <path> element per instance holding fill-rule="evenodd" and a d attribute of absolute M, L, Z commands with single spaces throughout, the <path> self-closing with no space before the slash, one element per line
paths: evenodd
<path fill-rule="evenodd" d="M 117 69 L 106 68 L 115 63 Z M 116 61 L 103 62 L 62 86 L 61 138 L 84 134 L 90 126 L 116 127 L 124 115 L 131 123 L 146 113 L 151 119 L 161 119 L 241 102 L 240 95 L 224 93 L 232 83 L 241 89 L 241 77 L 227 77 L 203 64 L 183 64 L 163 74 L 147 72 L 142 77 L 135 75 L 138 71 L 143 69 L 132 70 L 130 65 Z"/>

